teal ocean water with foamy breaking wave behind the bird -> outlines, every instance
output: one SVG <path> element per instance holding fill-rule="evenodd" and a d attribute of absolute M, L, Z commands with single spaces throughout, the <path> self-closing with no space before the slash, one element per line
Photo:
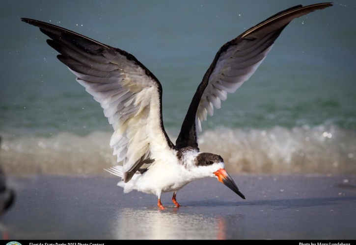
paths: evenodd
<path fill-rule="evenodd" d="M 0 159 L 22 173 L 101 173 L 115 164 L 100 105 L 22 23 L 50 22 L 137 57 L 161 81 L 177 137 L 225 42 L 314 1 L 5 1 L 0 20 Z M 356 173 L 356 7 L 343 0 L 294 20 L 256 73 L 202 124 L 202 150 L 236 172 Z"/>

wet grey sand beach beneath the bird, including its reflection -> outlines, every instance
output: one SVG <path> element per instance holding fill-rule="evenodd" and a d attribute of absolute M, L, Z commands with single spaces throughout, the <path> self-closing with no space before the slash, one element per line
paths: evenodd
<path fill-rule="evenodd" d="M 233 175 L 157 198 L 124 194 L 114 177 L 9 177 L 17 198 L 1 223 L 9 239 L 356 239 L 355 175 Z M 2 231 L 2 232 L 3 232 Z"/>

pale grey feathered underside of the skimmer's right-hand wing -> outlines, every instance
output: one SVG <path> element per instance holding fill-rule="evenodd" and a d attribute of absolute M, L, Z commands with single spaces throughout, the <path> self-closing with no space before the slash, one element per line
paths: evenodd
<path fill-rule="evenodd" d="M 207 120 L 208 114 L 213 116 L 214 107 L 220 109 L 221 100 L 226 100 L 227 93 L 235 93 L 257 70 L 273 47 L 271 36 L 274 34 L 258 42 L 245 39 L 221 53 L 197 109 L 195 124 L 200 132 L 201 122 Z"/>

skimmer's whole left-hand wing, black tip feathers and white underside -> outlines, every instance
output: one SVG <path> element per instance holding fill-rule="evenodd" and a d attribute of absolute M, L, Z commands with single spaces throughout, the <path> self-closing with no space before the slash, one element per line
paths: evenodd
<path fill-rule="evenodd" d="M 125 182 L 151 164 L 155 152 L 174 148 L 163 126 L 161 83 L 133 55 L 56 25 L 22 21 L 52 39 L 47 43 L 60 53 L 57 58 L 104 109 L 115 130 L 110 147 L 123 162 Z"/>

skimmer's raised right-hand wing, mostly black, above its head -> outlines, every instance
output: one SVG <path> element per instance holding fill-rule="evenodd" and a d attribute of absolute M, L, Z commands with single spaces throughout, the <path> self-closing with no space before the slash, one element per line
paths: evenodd
<path fill-rule="evenodd" d="M 201 131 L 201 122 L 206 120 L 207 114 L 212 116 L 214 107 L 220 108 L 227 93 L 234 93 L 250 78 L 286 25 L 295 18 L 329 6 L 332 4 L 318 3 L 286 9 L 224 44 L 195 92 L 176 147 L 198 146 L 196 128 Z"/>

